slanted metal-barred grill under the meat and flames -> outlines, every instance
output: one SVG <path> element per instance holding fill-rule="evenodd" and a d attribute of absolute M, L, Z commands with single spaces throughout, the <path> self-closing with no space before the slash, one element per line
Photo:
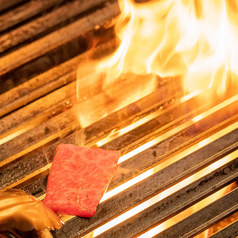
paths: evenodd
<path fill-rule="evenodd" d="M 97 237 L 238 235 L 237 84 L 230 80 L 225 95 L 207 100 L 211 89 L 185 94 L 181 79 L 158 78 L 153 93 L 81 128 L 76 71 L 116 48 L 105 25 L 118 15 L 117 2 L 0 0 L 0 11 L 2 191 L 20 188 L 43 199 L 60 143 L 120 150 L 96 214 L 63 216 L 65 224 L 53 237 L 82 237 L 94 230 Z M 97 93 L 94 87 L 85 90 Z M 222 189 L 229 192 L 186 215 Z M 120 217 L 123 221 L 110 228 Z M 165 222 L 171 225 L 159 233 Z"/>

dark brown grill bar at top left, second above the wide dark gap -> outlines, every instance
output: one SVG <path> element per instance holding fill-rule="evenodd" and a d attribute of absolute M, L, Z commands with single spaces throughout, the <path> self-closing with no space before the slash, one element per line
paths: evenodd
<path fill-rule="evenodd" d="M 38 1 L 38 2 L 40 2 L 38 4 L 40 4 L 40 6 L 41 6 L 42 1 Z M 55 4 L 55 2 L 51 2 L 50 4 L 44 5 L 43 8 L 51 7 Z M 38 18 L 37 20 L 29 22 L 28 24 L 25 24 L 25 25 L 17 28 L 16 30 L 11 31 L 10 33 L 7 33 L 7 34 L 1 36 L 0 37 L 0 53 L 16 46 L 26 40 L 35 38 L 39 34 L 46 32 L 47 30 L 57 26 L 58 24 L 60 24 L 64 21 L 70 20 L 71 18 L 78 16 L 79 14 L 81 14 L 93 7 L 99 6 L 100 4 L 102 4 L 104 2 L 105 2 L 105 0 L 96 0 L 96 1 L 95 0 L 94 1 L 93 0 L 90 0 L 90 1 L 75 0 L 73 2 L 65 4 L 62 7 L 56 9 L 55 11 Z M 35 1 L 35 3 L 37 3 L 37 2 Z M 30 7 L 27 6 L 26 9 L 28 9 L 30 14 L 34 13 L 30 9 Z M 36 10 L 39 11 L 40 9 L 36 9 Z M 111 9 L 109 9 L 109 10 L 111 10 Z M 27 17 L 27 15 L 25 15 L 25 14 L 24 14 L 24 16 Z M 6 16 L 6 17 L 9 17 L 9 16 Z M 92 16 L 92 18 L 94 18 L 94 17 L 98 18 L 98 15 Z M 90 19 L 91 19 L 91 17 L 90 17 Z M 86 22 L 83 22 L 83 23 L 85 24 Z M 80 32 L 79 29 L 82 28 L 81 21 L 79 21 L 78 24 L 74 24 L 74 26 L 72 26 L 72 27 L 68 27 L 68 28 L 70 28 L 69 30 L 65 29 L 64 31 L 67 31 L 67 33 L 69 34 L 69 32 L 76 31 L 75 29 L 77 27 L 78 27 L 78 31 Z M 61 34 L 62 34 L 62 32 L 61 32 Z M 57 39 L 57 38 L 60 38 L 61 36 L 53 35 L 52 37 L 55 37 Z M 61 38 L 61 40 L 63 40 L 63 39 Z M 53 44 L 54 44 L 54 42 L 53 42 Z"/>

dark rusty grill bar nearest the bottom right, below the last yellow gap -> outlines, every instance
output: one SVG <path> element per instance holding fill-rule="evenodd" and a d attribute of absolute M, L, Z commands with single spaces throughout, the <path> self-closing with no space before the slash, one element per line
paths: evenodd
<path fill-rule="evenodd" d="M 238 188 L 171 228 L 154 236 L 154 238 L 194 237 L 237 211 Z"/>

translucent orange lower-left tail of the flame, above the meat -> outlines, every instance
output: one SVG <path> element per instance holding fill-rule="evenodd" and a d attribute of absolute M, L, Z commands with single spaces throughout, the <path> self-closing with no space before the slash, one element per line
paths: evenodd
<path fill-rule="evenodd" d="M 147 96 L 156 88 L 155 76 L 128 73 L 114 78 L 110 71 L 99 70 L 97 64 L 90 61 L 78 68 L 77 79 L 76 113 L 83 128 Z"/>

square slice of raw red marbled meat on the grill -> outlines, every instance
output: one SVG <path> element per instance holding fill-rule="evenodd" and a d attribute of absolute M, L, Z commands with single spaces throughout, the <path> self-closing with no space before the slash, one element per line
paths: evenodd
<path fill-rule="evenodd" d="M 53 159 L 44 203 L 58 214 L 93 216 L 119 157 L 119 151 L 60 144 Z"/>

